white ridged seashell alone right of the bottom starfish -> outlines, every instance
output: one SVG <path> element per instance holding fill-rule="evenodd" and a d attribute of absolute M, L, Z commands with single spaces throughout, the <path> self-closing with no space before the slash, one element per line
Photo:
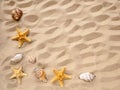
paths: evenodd
<path fill-rule="evenodd" d="M 85 72 L 80 74 L 79 78 L 85 81 L 92 81 L 95 78 L 95 75 L 90 72 Z"/>

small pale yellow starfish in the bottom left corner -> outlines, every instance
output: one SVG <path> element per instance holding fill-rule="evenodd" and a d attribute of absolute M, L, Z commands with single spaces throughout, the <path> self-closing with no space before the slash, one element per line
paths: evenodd
<path fill-rule="evenodd" d="M 22 67 L 20 67 L 18 69 L 13 68 L 12 70 L 13 70 L 13 75 L 10 77 L 10 79 L 16 78 L 18 83 L 21 84 L 23 76 L 26 76 L 27 74 L 25 74 L 22 71 Z"/>

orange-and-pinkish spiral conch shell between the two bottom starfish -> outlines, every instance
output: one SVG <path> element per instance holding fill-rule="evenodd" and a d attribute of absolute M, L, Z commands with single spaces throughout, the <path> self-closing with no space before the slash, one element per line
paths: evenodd
<path fill-rule="evenodd" d="M 34 69 L 34 73 L 35 73 L 36 78 L 40 79 L 40 81 L 47 82 L 47 77 L 46 77 L 46 73 L 44 69 L 40 69 L 37 67 Z"/>

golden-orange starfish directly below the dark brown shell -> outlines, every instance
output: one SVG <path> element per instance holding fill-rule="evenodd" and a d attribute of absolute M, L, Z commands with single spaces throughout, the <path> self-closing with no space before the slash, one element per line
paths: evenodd
<path fill-rule="evenodd" d="M 29 30 L 26 30 L 25 32 L 21 32 L 19 28 L 16 28 L 17 34 L 16 36 L 12 37 L 12 40 L 18 41 L 18 47 L 20 48 L 24 42 L 31 42 L 31 39 L 27 37 Z"/>

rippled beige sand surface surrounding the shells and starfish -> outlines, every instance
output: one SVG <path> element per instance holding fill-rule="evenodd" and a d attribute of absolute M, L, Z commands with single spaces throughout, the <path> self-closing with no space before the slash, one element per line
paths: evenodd
<path fill-rule="evenodd" d="M 23 11 L 14 21 L 11 11 Z M 16 27 L 30 29 L 31 43 L 18 48 L 11 40 Z M 23 53 L 23 60 L 10 58 Z M 36 56 L 37 62 L 28 62 Z M 35 78 L 33 69 L 45 65 L 48 82 Z M 27 73 L 18 84 L 11 67 L 23 66 Z M 66 67 L 72 79 L 64 87 L 50 81 L 53 68 Z M 92 82 L 80 80 L 82 72 L 93 72 Z M 120 0 L 1 0 L 0 1 L 0 90 L 120 90 Z"/>

